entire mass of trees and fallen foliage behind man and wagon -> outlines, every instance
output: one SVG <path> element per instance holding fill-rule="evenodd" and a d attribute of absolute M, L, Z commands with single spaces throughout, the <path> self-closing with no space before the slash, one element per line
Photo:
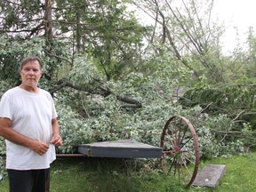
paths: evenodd
<path fill-rule="evenodd" d="M 145 1 L 145 10 L 156 13 L 155 27 L 141 26 L 127 10 L 129 1 L 65 2 L 0 3 L 0 98 L 20 84 L 20 60 L 39 56 L 40 87 L 52 93 L 59 114 L 64 144 L 58 153 L 101 140 L 159 146 L 171 116 L 186 116 L 195 125 L 202 158 L 254 147 L 254 85 L 244 85 L 255 81 L 252 30 L 250 54 L 237 47 L 227 57 L 220 52 L 220 27 L 196 15 L 201 6 L 194 0 L 184 4 L 185 13 L 168 1 L 168 9 Z M 230 86 L 234 80 L 239 84 Z M 1 155 L 4 150 L 1 138 Z"/>

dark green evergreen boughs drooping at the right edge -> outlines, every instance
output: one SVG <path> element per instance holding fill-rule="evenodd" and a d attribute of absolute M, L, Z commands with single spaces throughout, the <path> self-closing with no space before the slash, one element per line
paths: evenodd
<path fill-rule="evenodd" d="M 187 107 L 200 105 L 212 115 L 227 114 L 236 122 L 251 123 L 255 129 L 255 93 L 255 84 L 223 84 L 191 89 L 180 103 Z"/>

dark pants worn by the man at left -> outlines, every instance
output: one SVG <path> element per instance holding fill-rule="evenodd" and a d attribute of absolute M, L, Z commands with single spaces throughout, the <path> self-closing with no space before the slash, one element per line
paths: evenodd
<path fill-rule="evenodd" d="M 50 190 L 50 169 L 7 170 L 10 192 L 48 192 Z"/>

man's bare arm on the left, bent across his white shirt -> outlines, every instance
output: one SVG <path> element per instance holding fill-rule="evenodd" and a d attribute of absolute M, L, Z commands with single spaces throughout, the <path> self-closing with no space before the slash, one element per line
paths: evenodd
<path fill-rule="evenodd" d="M 27 136 L 20 134 L 20 132 L 15 132 L 11 128 L 11 124 L 12 121 L 9 118 L 0 117 L 0 136 L 20 146 L 30 148 L 40 156 L 43 156 L 44 153 L 46 153 L 49 148 L 48 145 L 38 140 L 32 140 Z"/>

